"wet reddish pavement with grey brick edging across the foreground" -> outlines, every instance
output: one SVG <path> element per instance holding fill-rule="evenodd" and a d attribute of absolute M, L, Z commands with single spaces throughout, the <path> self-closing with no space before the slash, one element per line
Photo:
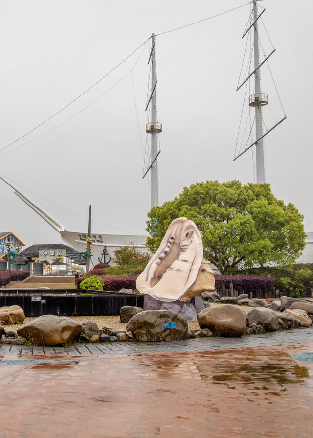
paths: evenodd
<path fill-rule="evenodd" d="M 312 328 L 8 347 L 0 348 L 1 438 L 312 436 Z"/>

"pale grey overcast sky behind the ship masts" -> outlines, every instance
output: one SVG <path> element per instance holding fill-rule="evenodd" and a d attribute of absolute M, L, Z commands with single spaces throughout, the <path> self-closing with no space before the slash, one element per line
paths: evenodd
<path fill-rule="evenodd" d="M 153 32 L 166 32 L 244 3 L 1 0 L 0 149 L 87 90 Z M 259 5 L 266 8 L 262 19 L 276 48 L 270 67 L 287 115 L 265 138 L 266 181 L 275 196 L 304 214 L 305 230 L 313 231 L 309 196 L 313 4 L 268 0 Z M 236 92 L 245 51 L 241 36 L 249 14 L 246 5 L 156 37 L 157 110 L 163 124 L 160 203 L 195 182 L 255 182 L 251 152 L 232 161 L 244 97 L 244 87 Z M 265 32 L 261 38 L 266 41 Z M 134 91 L 144 148 L 149 52 L 150 41 L 66 110 L 0 152 L 11 151 L 0 156 L 0 173 L 70 231 L 87 231 L 91 204 L 92 232 L 145 234 L 151 199 L 148 181 L 142 180 Z M 60 127 L 13 150 L 106 91 Z M 272 96 L 272 112 L 280 119 L 283 113 L 266 72 L 262 72 L 262 91 L 268 92 L 269 102 Z M 269 121 L 267 127 L 273 123 Z M 2 181 L 0 193 L 0 231 L 14 232 L 27 246 L 61 241 Z"/>

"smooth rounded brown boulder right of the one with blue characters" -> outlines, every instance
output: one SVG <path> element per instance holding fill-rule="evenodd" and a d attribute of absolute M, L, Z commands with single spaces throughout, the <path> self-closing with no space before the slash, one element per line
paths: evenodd
<path fill-rule="evenodd" d="M 198 323 L 216 336 L 236 337 L 246 331 L 244 312 L 231 304 L 207 307 L 198 314 Z"/>

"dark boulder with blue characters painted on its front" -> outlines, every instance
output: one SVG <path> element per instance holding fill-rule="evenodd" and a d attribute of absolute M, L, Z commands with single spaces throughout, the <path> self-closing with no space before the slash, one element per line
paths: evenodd
<path fill-rule="evenodd" d="M 129 320 L 126 331 L 138 341 L 179 341 L 188 338 L 188 324 L 169 310 L 144 310 Z"/>

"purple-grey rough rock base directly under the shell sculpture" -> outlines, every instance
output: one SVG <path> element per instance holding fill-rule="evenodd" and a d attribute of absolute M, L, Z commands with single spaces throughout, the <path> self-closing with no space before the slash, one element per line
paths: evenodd
<path fill-rule="evenodd" d="M 147 294 L 143 298 L 143 310 L 170 310 L 182 316 L 186 321 L 197 321 L 197 315 L 203 309 L 205 309 L 205 304 L 200 295 L 189 302 L 160 301 Z"/>

